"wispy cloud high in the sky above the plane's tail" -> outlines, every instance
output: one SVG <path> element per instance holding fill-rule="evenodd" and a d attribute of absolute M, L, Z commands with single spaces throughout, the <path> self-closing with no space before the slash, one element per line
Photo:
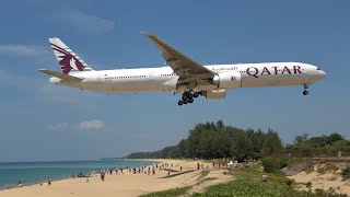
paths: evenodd
<path fill-rule="evenodd" d="M 86 14 L 80 10 L 68 10 L 66 12 L 60 14 L 60 20 L 63 20 L 63 24 L 69 24 L 71 27 L 86 34 L 109 32 L 115 25 L 114 21 Z"/>

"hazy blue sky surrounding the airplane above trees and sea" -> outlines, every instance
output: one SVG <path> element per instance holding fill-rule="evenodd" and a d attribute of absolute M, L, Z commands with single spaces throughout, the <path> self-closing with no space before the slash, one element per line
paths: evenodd
<path fill-rule="evenodd" d="M 197 123 L 350 138 L 350 1 L 47 1 L 0 7 L 0 161 L 85 160 L 158 150 Z M 106 94 L 48 84 L 58 36 L 94 69 L 158 67 L 156 34 L 202 65 L 302 61 L 327 78 L 241 89 L 178 107 L 171 93 Z"/>

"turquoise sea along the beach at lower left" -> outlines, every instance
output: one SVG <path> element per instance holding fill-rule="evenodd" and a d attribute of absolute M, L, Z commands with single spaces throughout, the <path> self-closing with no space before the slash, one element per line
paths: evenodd
<path fill-rule="evenodd" d="M 96 161 L 50 161 L 50 162 L 0 162 L 0 189 L 15 187 L 21 181 L 23 185 L 65 179 L 72 174 L 88 174 L 91 171 L 108 169 L 139 167 L 150 165 L 152 161 L 142 160 L 96 160 Z"/>

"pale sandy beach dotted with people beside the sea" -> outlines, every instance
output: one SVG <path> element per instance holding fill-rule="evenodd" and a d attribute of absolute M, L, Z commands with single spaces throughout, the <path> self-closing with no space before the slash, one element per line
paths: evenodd
<path fill-rule="evenodd" d="M 155 174 L 144 173 L 130 173 L 124 170 L 124 174 L 107 174 L 105 181 L 101 181 L 100 175 L 94 175 L 89 178 L 70 178 L 56 181 L 48 186 L 47 183 L 12 188 L 7 190 L 0 190 L 0 197 L 62 197 L 62 196 L 77 196 L 77 197 L 95 197 L 103 195 L 104 197 L 109 196 L 139 196 L 147 193 L 165 190 L 170 188 L 184 187 L 197 184 L 203 170 L 197 170 L 197 161 L 182 161 L 182 160 L 152 160 L 162 163 L 167 163 L 168 169 L 172 171 L 168 176 L 168 171 L 156 170 Z M 200 165 L 202 162 L 199 162 Z M 173 167 L 172 167 L 173 166 Z M 180 166 L 182 172 L 180 171 Z M 205 170 L 211 169 L 209 163 L 203 164 Z M 148 169 L 148 167 L 147 167 Z M 151 167 L 152 169 L 152 167 Z M 167 169 L 167 167 L 165 167 Z M 200 167 L 201 169 L 201 167 Z M 225 170 L 209 171 L 206 177 L 214 177 L 210 182 L 203 184 L 197 184 L 191 188 L 191 193 L 201 192 L 205 187 L 224 183 L 232 178 L 232 176 L 223 175 Z M 177 175 L 178 174 L 178 175 Z"/>

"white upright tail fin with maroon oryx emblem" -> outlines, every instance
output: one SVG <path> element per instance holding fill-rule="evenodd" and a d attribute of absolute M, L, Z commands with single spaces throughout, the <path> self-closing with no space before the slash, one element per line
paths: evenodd
<path fill-rule="evenodd" d="M 65 74 L 68 74 L 70 72 L 93 70 L 58 37 L 52 37 L 48 40 L 51 44 L 57 61 Z"/>

